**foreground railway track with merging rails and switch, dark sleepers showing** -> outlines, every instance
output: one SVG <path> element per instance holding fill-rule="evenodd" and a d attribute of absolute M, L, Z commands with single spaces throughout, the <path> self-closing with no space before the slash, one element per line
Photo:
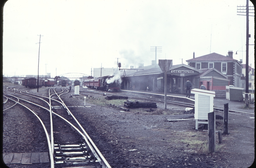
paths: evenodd
<path fill-rule="evenodd" d="M 37 117 L 47 138 L 51 168 L 58 164 L 111 167 L 61 99 L 61 95 L 68 92 L 65 87 L 64 90 L 50 88 L 48 96 L 22 90 L 16 88 L 15 94 L 4 92 L 7 100 L 3 103 L 12 101 L 13 104 L 4 111 L 21 105 L 22 109 L 26 108 Z M 10 88 L 9 91 L 14 93 L 14 88 Z"/>

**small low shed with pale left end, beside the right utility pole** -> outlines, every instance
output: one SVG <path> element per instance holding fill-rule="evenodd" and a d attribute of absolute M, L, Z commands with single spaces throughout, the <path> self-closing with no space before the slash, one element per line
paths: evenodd
<path fill-rule="evenodd" d="M 230 101 L 243 101 L 242 87 L 226 86 L 226 99 Z"/>

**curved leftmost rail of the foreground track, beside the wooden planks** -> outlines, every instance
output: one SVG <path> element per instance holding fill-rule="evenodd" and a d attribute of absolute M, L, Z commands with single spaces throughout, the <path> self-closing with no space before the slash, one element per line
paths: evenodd
<path fill-rule="evenodd" d="M 7 94 L 7 95 L 9 95 L 9 94 Z M 13 96 L 13 95 L 9 95 L 9 96 Z M 18 97 L 16 97 L 16 96 L 13 96 L 13 97 L 15 97 L 15 98 L 17 98 L 17 99 L 20 99 L 20 98 L 18 98 Z M 10 98 L 9 98 L 9 99 L 10 99 Z M 12 99 L 10 99 L 10 100 L 12 100 Z M 21 99 L 21 100 L 24 100 L 24 99 Z M 12 101 L 16 102 L 15 100 L 12 100 Z M 27 101 L 27 100 L 24 100 L 24 101 Z M 27 101 L 27 102 L 29 102 L 29 101 Z M 40 117 L 39 117 L 35 112 L 33 112 L 33 110 L 31 110 L 30 108 L 28 108 L 27 106 L 25 106 L 25 105 L 23 105 L 23 104 L 21 104 L 21 103 L 19 103 L 19 102 L 17 102 L 17 103 L 20 104 L 20 105 L 22 105 L 23 107 L 27 108 L 29 111 L 31 111 L 31 112 L 37 117 L 37 119 L 40 121 L 40 123 L 42 124 L 42 127 L 43 127 L 43 129 L 44 129 L 44 131 L 45 131 L 45 134 L 46 134 L 47 142 L 48 142 L 48 148 L 49 148 L 49 154 L 50 154 L 50 160 L 51 160 L 51 168 L 54 168 L 54 160 L 53 160 L 51 142 L 50 142 L 50 138 L 49 138 L 48 132 L 47 132 L 47 130 L 46 130 L 46 128 L 45 128 L 45 125 L 43 124 L 43 122 L 42 122 L 42 120 L 40 119 Z M 33 102 L 31 102 L 31 103 L 34 104 Z M 40 106 L 40 105 L 39 105 L 39 106 Z M 42 106 L 40 106 L 40 107 L 42 107 Z M 42 107 L 42 108 L 44 108 L 44 107 Z"/>

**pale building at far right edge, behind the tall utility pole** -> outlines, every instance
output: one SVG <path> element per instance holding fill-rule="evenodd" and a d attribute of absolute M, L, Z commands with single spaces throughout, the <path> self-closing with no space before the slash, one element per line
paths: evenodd
<path fill-rule="evenodd" d="M 245 64 L 242 64 L 243 65 L 243 69 L 242 69 L 242 77 L 241 77 L 241 83 L 242 83 L 242 86 L 244 89 L 245 89 Z M 254 86 L 254 68 L 252 68 L 252 64 L 250 64 L 249 68 L 249 90 L 255 90 L 255 86 Z"/>

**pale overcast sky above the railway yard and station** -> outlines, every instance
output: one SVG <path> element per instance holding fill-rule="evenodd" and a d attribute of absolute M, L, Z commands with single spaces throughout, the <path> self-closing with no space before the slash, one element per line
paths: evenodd
<path fill-rule="evenodd" d="M 226 56 L 229 50 L 245 64 L 246 16 L 237 15 L 239 5 L 246 0 L 8 0 L 3 74 L 37 75 L 40 34 L 39 75 L 52 77 L 91 75 L 101 63 L 117 68 L 117 58 L 121 68 L 151 65 L 155 52 L 150 46 L 161 46 L 157 60 L 172 59 L 173 65 L 187 64 L 193 52 L 195 57 Z M 253 16 L 249 34 L 254 44 Z M 250 63 L 254 68 L 254 45 L 249 46 Z"/>

